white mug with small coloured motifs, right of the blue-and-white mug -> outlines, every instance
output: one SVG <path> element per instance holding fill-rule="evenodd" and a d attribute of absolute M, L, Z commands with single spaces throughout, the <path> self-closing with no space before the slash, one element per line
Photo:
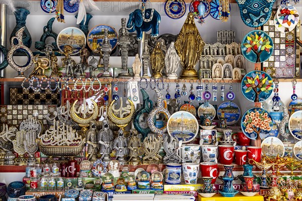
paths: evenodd
<path fill-rule="evenodd" d="M 198 163 L 183 163 L 182 164 L 183 175 L 186 184 L 196 184 L 197 176 L 199 172 Z"/>

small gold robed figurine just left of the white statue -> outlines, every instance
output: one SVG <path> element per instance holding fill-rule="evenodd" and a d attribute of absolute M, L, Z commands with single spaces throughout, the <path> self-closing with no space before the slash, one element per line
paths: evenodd
<path fill-rule="evenodd" d="M 163 77 L 162 72 L 165 66 L 165 54 L 161 47 L 161 42 L 157 42 L 150 56 L 150 63 L 153 70 L 152 76 L 155 78 Z"/>

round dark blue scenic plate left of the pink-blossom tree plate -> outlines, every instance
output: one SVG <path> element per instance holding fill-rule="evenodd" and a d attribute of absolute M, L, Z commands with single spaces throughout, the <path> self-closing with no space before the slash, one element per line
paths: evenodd
<path fill-rule="evenodd" d="M 240 119 L 240 109 L 233 102 L 224 102 L 217 109 L 218 118 L 226 118 L 226 124 L 232 125 Z"/>

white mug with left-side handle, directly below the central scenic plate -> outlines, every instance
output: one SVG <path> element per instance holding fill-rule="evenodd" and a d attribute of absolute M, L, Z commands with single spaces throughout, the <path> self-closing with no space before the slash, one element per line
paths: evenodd
<path fill-rule="evenodd" d="M 183 163 L 199 163 L 200 162 L 200 145 L 184 144 L 177 148 L 177 155 Z"/>

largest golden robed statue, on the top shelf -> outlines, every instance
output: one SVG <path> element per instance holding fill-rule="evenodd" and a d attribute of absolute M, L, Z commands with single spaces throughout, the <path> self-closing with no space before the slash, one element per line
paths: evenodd
<path fill-rule="evenodd" d="M 193 13 L 188 14 L 174 45 L 184 67 L 181 78 L 197 79 L 198 75 L 194 67 L 205 43 L 197 30 Z"/>

